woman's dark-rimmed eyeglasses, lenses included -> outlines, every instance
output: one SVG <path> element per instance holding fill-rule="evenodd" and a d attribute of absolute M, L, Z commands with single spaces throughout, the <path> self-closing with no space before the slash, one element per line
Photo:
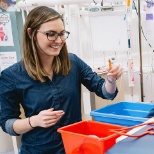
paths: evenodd
<path fill-rule="evenodd" d="M 65 41 L 70 34 L 70 32 L 68 31 L 62 31 L 60 33 L 57 33 L 55 31 L 47 31 L 47 32 L 44 32 L 41 30 L 37 30 L 37 31 L 46 35 L 49 41 L 55 41 L 58 38 L 58 36 L 61 38 L 62 41 Z"/>

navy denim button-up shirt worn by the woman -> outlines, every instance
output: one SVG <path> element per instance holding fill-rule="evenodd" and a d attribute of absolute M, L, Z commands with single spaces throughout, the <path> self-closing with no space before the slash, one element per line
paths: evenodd
<path fill-rule="evenodd" d="M 63 110 L 64 116 L 49 128 L 36 127 L 22 135 L 23 154 L 64 153 L 59 127 L 81 121 L 81 84 L 104 99 L 113 99 L 116 94 L 104 95 L 102 87 L 105 80 L 75 54 L 69 54 L 71 70 L 69 74 L 54 74 L 53 79 L 41 83 L 33 80 L 18 62 L 5 69 L 0 77 L 0 102 L 2 129 L 9 132 L 7 124 L 20 116 L 20 103 L 26 117 L 37 115 L 49 108 Z M 107 92 L 106 92 L 107 93 Z M 14 135 L 17 135 L 14 132 Z M 54 151 L 55 150 L 55 151 Z M 58 151 L 59 150 L 59 151 Z"/>

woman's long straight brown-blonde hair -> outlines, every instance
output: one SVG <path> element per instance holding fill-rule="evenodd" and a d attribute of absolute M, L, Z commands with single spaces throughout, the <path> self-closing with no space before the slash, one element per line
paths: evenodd
<path fill-rule="evenodd" d="M 22 39 L 22 60 L 29 76 L 34 80 L 45 82 L 48 76 L 41 66 L 37 52 L 38 47 L 35 39 L 37 30 L 41 24 L 58 18 L 63 21 L 62 16 L 58 12 L 46 6 L 34 8 L 26 18 Z M 27 33 L 28 28 L 31 28 L 31 38 L 29 38 Z M 66 76 L 69 73 L 70 61 L 66 43 L 63 45 L 60 54 L 54 57 L 52 68 L 57 74 Z"/>

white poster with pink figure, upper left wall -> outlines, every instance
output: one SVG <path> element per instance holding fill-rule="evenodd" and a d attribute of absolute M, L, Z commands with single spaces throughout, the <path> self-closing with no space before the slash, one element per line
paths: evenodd
<path fill-rule="evenodd" d="M 0 13 L 0 46 L 14 46 L 11 20 L 8 13 Z"/>

